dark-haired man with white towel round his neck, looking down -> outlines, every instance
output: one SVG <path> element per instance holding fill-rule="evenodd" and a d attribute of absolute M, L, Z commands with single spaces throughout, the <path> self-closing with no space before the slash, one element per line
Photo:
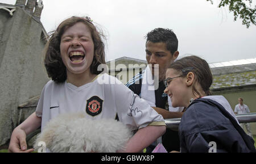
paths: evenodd
<path fill-rule="evenodd" d="M 129 87 L 135 94 L 147 100 L 164 119 L 178 118 L 183 115 L 183 108 L 173 108 L 168 95 L 164 93 L 164 83 L 166 69 L 179 56 L 177 51 L 178 40 L 175 33 L 170 29 L 155 28 L 147 33 L 146 41 L 146 60 L 147 68 L 135 75 L 134 78 L 127 82 Z M 155 79 L 158 78 L 158 79 Z M 152 83 L 148 79 L 154 79 L 154 90 Z M 162 137 L 164 147 L 168 152 L 172 150 L 179 151 L 179 136 L 177 131 L 166 129 L 166 133 Z M 156 142 L 148 146 L 146 152 L 150 153 L 154 150 Z"/>

